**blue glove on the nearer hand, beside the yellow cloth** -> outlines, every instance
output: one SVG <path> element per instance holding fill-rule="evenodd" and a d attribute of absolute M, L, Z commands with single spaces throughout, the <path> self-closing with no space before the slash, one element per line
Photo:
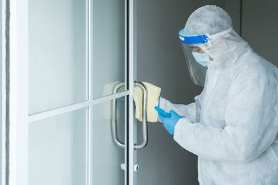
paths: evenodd
<path fill-rule="evenodd" d="M 176 112 L 173 110 L 170 110 L 169 112 L 170 116 L 164 116 L 160 112 L 158 112 L 159 118 L 161 118 L 161 121 L 167 130 L 169 134 L 173 135 L 174 134 L 174 126 L 178 123 L 180 118 L 183 118 L 183 116 L 179 116 Z"/>

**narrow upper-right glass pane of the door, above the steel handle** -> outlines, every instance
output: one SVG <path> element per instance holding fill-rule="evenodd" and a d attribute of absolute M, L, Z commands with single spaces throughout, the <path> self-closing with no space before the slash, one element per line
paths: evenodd
<path fill-rule="evenodd" d="M 92 1 L 93 98 L 124 82 L 124 1 Z M 123 89 L 124 90 L 124 89 Z"/>

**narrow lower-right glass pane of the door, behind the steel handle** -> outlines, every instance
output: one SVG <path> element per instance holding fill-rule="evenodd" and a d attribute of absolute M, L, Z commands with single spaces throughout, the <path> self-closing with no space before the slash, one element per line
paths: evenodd
<path fill-rule="evenodd" d="M 111 101 L 92 108 L 92 184 L 122 185 L 124 148 L 116 146 L 111 134 Z M 117 135 L 124 142 L 124 97 L 117 99 Z"/>

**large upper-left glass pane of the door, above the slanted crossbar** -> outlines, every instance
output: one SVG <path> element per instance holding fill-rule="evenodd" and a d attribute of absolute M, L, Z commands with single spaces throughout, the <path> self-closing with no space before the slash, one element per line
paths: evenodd
<path fill-rule="evenodd" d="M 28 1 L 29 113 L 85 100 L 85 0 Z"/>

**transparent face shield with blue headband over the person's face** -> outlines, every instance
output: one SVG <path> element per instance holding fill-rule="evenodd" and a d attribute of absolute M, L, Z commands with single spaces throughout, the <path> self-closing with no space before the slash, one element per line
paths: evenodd
<path fill-rule="evenodd" d="M 204 87 L 207 67 L 199 64 L 195 60 L 195 58 L 197 58 L 196 55 L 201 54 L 202 57 L 204 51 L 202 51 L 202 49 L 200 49 L 195 44 L 208 42 L 208 36 L 199 35 L 199 36 L 188 37 L 184 34 L 184 28 L 183 28 L 179 30 L 179 39 L 181 41 L 181 46 L 183 47 L 184 57 L 186 58 L 186 64 L 192 82 L 195 83 L 195 85 Z M 195 56 L 193 56 L 193 53 L 195 54 Z"/>

